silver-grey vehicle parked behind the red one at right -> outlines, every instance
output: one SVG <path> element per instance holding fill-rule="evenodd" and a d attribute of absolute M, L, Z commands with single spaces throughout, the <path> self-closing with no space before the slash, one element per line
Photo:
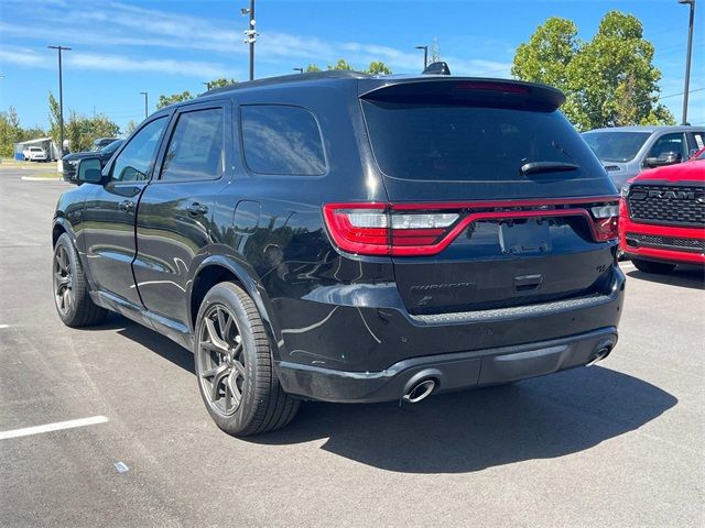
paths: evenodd
<path fill-rule="evenodd" d="M 705 128 L 615 127 L 590 130 L 583 139 L 619 189 L 646 168 L 687 161 L 705 145 Z"/>

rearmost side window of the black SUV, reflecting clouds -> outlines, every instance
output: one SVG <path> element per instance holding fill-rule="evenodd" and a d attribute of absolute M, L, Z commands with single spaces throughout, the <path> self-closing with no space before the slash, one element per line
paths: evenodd
<path fill-rule="evenodd" d="M 240 120 L 245 161 L 253 173 L 317 176 L 326 172 L 321 131 L 308 110 L 243 106 Z"/>

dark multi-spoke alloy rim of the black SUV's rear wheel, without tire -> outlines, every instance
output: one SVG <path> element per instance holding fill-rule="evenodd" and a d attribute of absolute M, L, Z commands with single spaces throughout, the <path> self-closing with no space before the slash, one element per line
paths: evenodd
<path fill-rule="evenodd" d="M 196 362 L 208 405 L 221 416 L 232 415 L 242 400 L 245 353 L 237 320 L 221 304 L 213 305 L 204 316 Z"/>

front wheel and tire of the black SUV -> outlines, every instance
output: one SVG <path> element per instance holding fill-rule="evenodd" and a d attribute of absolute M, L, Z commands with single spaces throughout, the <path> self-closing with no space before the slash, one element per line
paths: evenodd
<path fill-rule="evenodd" d="M 54 245 L 52 284 L 56 311 L 64 324 L 73 328 L 86 327 L 105 320 L 108 310 L 97 306 L 90 298 L 78 253 L 66 233 Z"/>

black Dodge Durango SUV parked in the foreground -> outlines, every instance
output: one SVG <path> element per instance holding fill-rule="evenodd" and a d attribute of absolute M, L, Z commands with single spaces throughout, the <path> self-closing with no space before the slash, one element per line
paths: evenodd
<path fill-rule="evenodd" d="M 195 353 L 225 431 L 605 358 L 618 196 L 546 86 L 327 72 L 151 116 L 53 223 L 56 307 Z"/>

